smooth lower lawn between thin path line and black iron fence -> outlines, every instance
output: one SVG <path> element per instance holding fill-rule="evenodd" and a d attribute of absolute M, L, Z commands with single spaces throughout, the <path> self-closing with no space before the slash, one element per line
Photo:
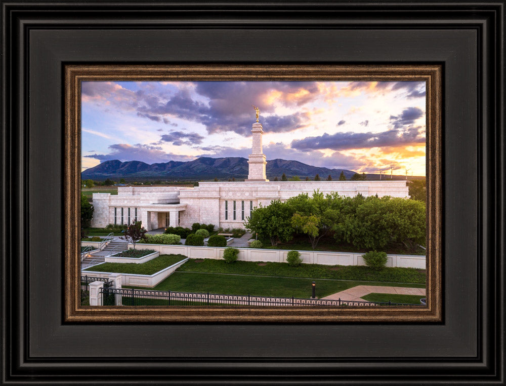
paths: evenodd
<path fill-rule="evenodd" d="M 391 283 L 379 282 L 371 283 L 361 281 L 314 280 L 316 281 L 317 297 L 324 297 L 358 285 L 392 285 Z M 210 292 L 230 295 L 251 294 L 258 296 L 294 296 L 309 298 L 311 297 L 312 282 L 313 279 L 302 278 L 274 278 L 175 272 L 153 289 L 159 291 Z M 416 284 L 403 286 L 419 287 L 419 285 Z M 421 287 L 423 288 L 423 286 Z"/>

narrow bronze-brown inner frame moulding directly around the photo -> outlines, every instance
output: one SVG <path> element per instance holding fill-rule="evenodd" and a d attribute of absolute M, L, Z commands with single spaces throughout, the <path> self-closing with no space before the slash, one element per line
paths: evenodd
<path fill-rule="evenodd" d="M 65 320 L 72 322 L 440 322 L 441 65 L 78 65 L 65 66 Z M 81 306 L 79 256 L 82 81 L 426 82 L 427 307 Z"/>

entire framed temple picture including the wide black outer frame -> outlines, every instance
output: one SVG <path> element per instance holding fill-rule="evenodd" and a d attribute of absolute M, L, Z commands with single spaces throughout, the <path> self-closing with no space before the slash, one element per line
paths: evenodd
<path fill-rule="evenodd" d="M 479 5 L 4 2 L 2 20 L 2 384 L 504 384 L 504 1 Z M 215 95 L 221 82 L 221 105 L 220 98 L 206 97 L 201 89 L 197 92 L 205 82 L 216 86 L 207 95 Z M 261 92 L 246 87 L 248 82 Z M 306 85 L 290 87 L 294 82 Z M 406 87 L 407 82 L 413 83 Z M 230 92 L 239 83 L 246 84 L 243 98 Z M 365 104 L 362 114 L 352 114 L 344 99 L 337 104 L 327 100 L 330 107 L 323 108 L 310 98 L 311 90 L 319 90 L 318 98 L 325 99 L 331 94 L 321 90 L 332 86 L 350 92 L 355 86 L 360 95 L 365 95 L 365 89 L 382 89 L 382 93 L 367 94 L 377 99 Z M 263 93 L 265 89 L 269 95 Z M 329 110 L 338 114 L 328 118 Z M 340 118 L 340 111 L 350 114 Z M 313 117 L 319 117 L 321 128 L 315 128 Z M 326 125 L 330 121 L 332 127 Z M 419 127 L 422 124 L 425 128 Z M 427 248 L 422 284 L 427 305 L 352 304 L 362 302 L 357 299 L 336 305 L 335 299 L 323 298 L 339 293 L 332 287 L 344 279 L 338 276 L 304 277 L 309 281 L 300 296 L 281 292 L 289 286 L 288 282 L 279 285 L 286 275 L 277 275 L 278 282 L 255 283 L 250 288 L 258 293 L 234 293 L 239 287 L 248 289 L 252 280 L 248 275 L 270 278 L 272 266 L 285 269 L 282 264 L 287 264 L 291 250 L 298 251 L 302 260 L 300 267 L 289 267 L 293 272 L 310 264 L 328 275 L 342 275 L 339 266 L 355 273 L 369 269 L 360 264 L 325 264 L 318 252 L 325 237 L 316 240 L 324 220 L 305 213 L 306 203 L 289 213 L 297 236 L 287 240 L 281 235 L 270 241 L 252 223 L 252 215 L 267 202 L 261 202 L 260 195 L 254 198 L 249 187 L 262 186 L 260 190 L 279 197 L 279 206 L 286 209 L 282 206 L 286 202 L 315 199 L 312 191 L 302 188 L 304 183 L 321 182 L 330 197 L 345 196 L 339 187 L 331 186 L 340 182 L 342 171 L 347 181 L 341 182 L 353 184 L 349 200 L 381 201 L 384 195 L 373 185 L 378 188 L 384 177 L 393 182 L 389 196 L 395 191 L 401 195 L 409 189 L 406 181 L 422 174 L 413 154 L 403 153 L 405 161 L 395 165 L 393 161 L 400 158 L 381 157 L 388 153 L 387 145 L 394 145 L 387 141 L 392 139 L 387 131 L 397 134 L 397 144 L 406 139 L 404 144 L 410 147 L 404 150 L 427 149 L 427 237 L 425 245 L 417 243 Z M 365 133 L 362 141 L 384 147 L 370 147 L 370 143 L 359 147 L 359 133 Z M 332 140 L 341 145 L 332 145 Z M 348 148 L 345 140 L 351 144 Z M 125 146 L 113 146 L 118 144 Z M 129 146 L 191 160 L 146 157 L 156 151 L 129 158 L 125 156 Z M 220 153 L 226 146 L 236 152 Z M 307 162 L 301 158 L 303 153 Z M 236 174 L 230 170 L 220 174 L 215 168 L 214 175 L 196 173 L 181 181 L 173 172 L 170 180 L 160 184 L 154 183 L 160 175 L 152 173 L 156 179 L 146 175 L 156 169 L 153 164 L 166 171 L 171 161 L 232 156 L 243 165 Z M 340 161 L 328 163 L 332 157 Z M 302 173 L 285 165 L 274 170 L 269 161 L 276 159 L 325 173 L 318 173 L 318 181 L 316 169 Z M 363 163 L 351 165 L 357 159 Z M 108 163 L 115 160 L 147 166 L 136 164 L 142 173 L 129 177 Z M 83 178 L 87 175 L 90 178 Z M 108 184 L 119 185 L 90 186 L 107 179 Z M 193 186 L 184 186 L 190 181 Z M 362 181 L 360 186 L 356 181 Z M 293 193 L 263 188 L 278 186 L 276 182 L 292 184 Z M 167 186 L 171 184 L 177 186 Z M 228 196 L 224 188 L 225 196 L 217 195 L 216 187 L 222 185 L 237 190 Z M 246 185 L 248 189 L 242 189 Z M 81 199 L 81 188 L 92 203 Z M 107 189 L 117 194 L 103 191 Z M 205 204 L 190 203 L 192 195 L 195 201 L 204 201 L 206 189 Z M 141 191 L 147 194 L 136 194 Z M 300 197 L 301 192 L 308 195 Z M 407 196 L 412 196 L 409 190 Z M 81 226 L 78 220 L 83 220 L 81 203 L 84 213 L 89 212 L 87 204 L 93 206 L 92 216 L 84 218 L 89 226 Z M 193 229 L 196 223 L 199 226 Z M 244 238 L 248 240 L 243 240 L 243 248 L 201 246 L 201 238 L 209 243 L 212 236 L 236 243 L 242 236 L 234 233 L 243 231 L 237 223 L 247 223 L 244 227 L 251 235 Z M 124 224 L 126 228 L 115 227 Z M 310 224 L 317 234 L 311 234 Z M 149 236 L 139 238 L 142 226 Z M 165 228 L 171 233 L 165 234 Z M 106 229 L 110 231 L 105 235 L 97 234 Z M 153 234 L 157 229 L 159 235 Z M 81 230 L 88 234 L 81 235 Z M 333 242 L 339 241 L 334 237 L 338 230 L 333 229 Z M 186 232 L 185 237 L 177 234 L 181 232 Z M 379 236 L 376 232 L 373 239 Z M 81 240 L 94 237 L 100 240 Z M 174 239 L 174 244 L 149 243 L 150 237 Z M 275 256 L 271 261 L 255 258 L 251 251 L 259 249 L 258 243 L 247 247 L 254 239 L 263 243 L 262 253 Z M 132 245 L 124 248 L 125 242 Z M 222 243 L 211 244 L 215 242 Z M 102 257 L 88 248 L 93 243 L 102 244 L 99 250 L 112 249 L 108 259 L 124 261 L 105 261 L 105 255 L 103 261 L 93 261 Z M 122 244 L 123 250 L 113 243 Z M 287 245 L 297 248 L 282 248 Z M 359 262 L 354 255 L 361 257 L 373 250 L 372 245 L 354 245 L 359 251 L 348 251 L 353 255 L 350 261 Z M 134 247 L 135 251 L 127 252 L 130 256 L 122 255 Z M 239 250 L 234 263 L 223 259 L 227 247 Z M 176 259 L 175 248 L 190 254 L 185 255 L 190 260 L 170 260 Z M 190 250 L 198 248 L 215 248 L 215 255 L 201 259 L 191 255 Z M 153 252 L 138 255 L 149 249 Z M 402 253 L 386 252 L 384 272 L 394 267 L 420 269 L 400 265 L 407 264 L 400 258 L 394 260 Z M 110 265 L 108 270 L 98 267 L 132 264 L 126 259 L 157 262 L 160 256 L 166 259 L 162 269 L 179 269 L 163 279 L 171 280 L 171 286 L 177 284 L 177 275 L 190 278 L 191 288 L 169 289 L 176 299 L 161 298 L 159 293 L 150 298 L 143 292 L 165 289 L 156 287 L 163 280 L 146 287 L 142 275 L 148 273 L 142 268 L 140 273 L 127 273 L 114 272 Z M 220 272 L 215 269 L 217 262 L 222 263 Z M 183 264 L 191 269 L 183 273 Z M 237 275 L 223 270 L 239 266 L 246 266 L 248 272 L 235 287 L 218 278 Z M 200 281 L 207 287 L 197 288 L 194 278 L 204 271 L 215 280 Z M 83 279 L 83 272 L 90 272 L 91 280 L 86 274 Z M 136 274 L 135 280 L 126 278 Z M 323 283 L 323 279 L 330 280 Z M 316 288 L 311 293 L 313 281 Z M 392 278 L 384 282 L 392 283 Z M 402 282 L 405 287 L 406 281 Z M 267 291 L 270 283 L 275 292 Z M 91 305 L 81 298 L 82 287 L 87 287 Z M 180 293 L 199 295 L 184 298 Z M 232 294 L 241 297 L 215 297 L 219 300 L 215 303 L 202 297 Z M 256 295 L 257 303 L 251 304 L 248 296 L 246 305 L 246 295 Z M 361 296 L 367 295 L 357 297 Z M 363 301 L 384 303 L 385 298 L 374 296 Z M 293 299 L 293 304 L 267 305 L 271 298 Z M 307 304 L 296 304 L 296 299 Z M 166 300 L 168 304 L 162 302 Z M 135 301 L 145 303 L 135 305 Z"/>

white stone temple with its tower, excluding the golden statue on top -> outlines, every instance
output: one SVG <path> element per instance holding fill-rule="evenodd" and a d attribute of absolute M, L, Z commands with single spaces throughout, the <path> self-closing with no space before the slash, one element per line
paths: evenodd
<path fill-rule="evenodd" d="M 244 228 L 251 211 L 273 200 L 315 190 L 323 194 L 364 197 L 378 195 L 408 198 L 408 186 L 400 181 L 269 181 L 266 156 L 262 149 L 261 123 L 252 126 L 252 151 L 248 158 L 248 178 L 242 182 L 199 182 L 197 187 L 130 186 L 118 187 L 118 194 L 93 194 L 93 227 L 130 224 L 142 220 L 147 230 L 167 226 L 191 227 L 194 222 L 216 227 Z"/>

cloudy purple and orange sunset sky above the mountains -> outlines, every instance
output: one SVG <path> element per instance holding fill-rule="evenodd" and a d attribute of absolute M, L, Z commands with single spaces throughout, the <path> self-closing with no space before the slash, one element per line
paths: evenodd
<path fill-rule="evenodd" d="M 107 160 L 267 160 L 425 175 L 424 82 L 83 82 L 82 170 Z"/>

